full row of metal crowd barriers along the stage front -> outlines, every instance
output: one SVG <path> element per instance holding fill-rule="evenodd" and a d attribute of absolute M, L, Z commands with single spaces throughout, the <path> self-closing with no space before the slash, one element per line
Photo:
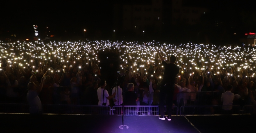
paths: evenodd
<path fill-rule="evenodd" d="M 231 110 L 224 110 L 231 108 Z M 223 109 L 224 108 L 224 109 Z M 167 110 L 165 106 L 165 115 Z M 29 113 L 28 104 L 0 103 L 0 113 Z M 62 105 L 43 104 L 43 114 L 84 114 L 84 115 L 159 115 L 159 106 L 86 106 L 86 105 Z M 246 105 L 242 110 L 239 105 L 233 106 L 173 106 L 172 115 L 223 115 L 223 114 L 256 114 L 256 106 Z"/>

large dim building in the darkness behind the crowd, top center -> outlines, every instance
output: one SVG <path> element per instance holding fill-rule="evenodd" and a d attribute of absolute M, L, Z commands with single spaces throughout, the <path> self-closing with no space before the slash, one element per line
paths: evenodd
<path fill-rule="evenodd" d="M 120 2 L 114 6 L 114 29 L 116 34 L 119 33 L 119 38 L 124 40 L 161 41 L 169 39 L 177 33 L 172 30 L 173 27 L 181 23 L 183 25 L 198 24 L 200 17 L 206 13 L 206 8 L 190 3 L 187 0 Z"/>

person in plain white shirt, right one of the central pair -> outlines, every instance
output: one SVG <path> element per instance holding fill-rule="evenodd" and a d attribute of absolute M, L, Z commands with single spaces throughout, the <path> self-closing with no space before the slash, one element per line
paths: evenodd
<path fill-rule="evenodd" d="M 117 82 L 117 88 L 114 87 L 112 89 L 112 95 L 115 92 L 116 92 L 116 95 L 115 95 L 115 97 L 113 97 L 114 104 L 115 104 L 115 106 L 116 105 L 121 105 L 123 98 L 122 98 L 122 88 L 120 88 L 120 82 L 119 81 Z"/>

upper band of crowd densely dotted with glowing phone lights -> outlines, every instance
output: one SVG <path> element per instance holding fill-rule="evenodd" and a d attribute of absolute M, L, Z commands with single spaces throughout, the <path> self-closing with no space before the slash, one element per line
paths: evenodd
<path fill-rule="evenodd" d="M 254 77 L 255 48 L 234 47 L 217 45 L 181 44 L 158 44 L 150 42 L 138 44 L 137 42 L 111 42 L 111 41 L 88 41 L 88 42 L 16 42 L 1 43 L 2 69 L 22 68 L 40 73 L 39 65 L 61 63 L 62 69 L 77 69 L 93 62 L 100 64 L 99 52 L 116 52 L 119 56 L 120 70 L 129 70 L 127 66 L 136 70 L 147 70 L 147 66 L 161 66 L 156 51 L 160 50 L 165 61 L 170 55 L 177 57 L 176 64 L 182 67 L 181 72 L 190 75 L 195 72 L 211 72 L 225 76 Z M 108 59 L 106 57 L 105 59 Z M 73 66 L 72 66 L 73 65 Z M 160 67 L 161 68 L 161 67 Z M 186 68 L 188 68 L 186 70 Z M 61 69 L 59 68 L 59 71 Z M 50 69 L 55 72 L 56 69 Z M 232 72 L 231 72 L 232 71 Z M 133 71 L 135 72 L 135 70 Z M 225 73 L 226 72 L 226 73 Z"/>

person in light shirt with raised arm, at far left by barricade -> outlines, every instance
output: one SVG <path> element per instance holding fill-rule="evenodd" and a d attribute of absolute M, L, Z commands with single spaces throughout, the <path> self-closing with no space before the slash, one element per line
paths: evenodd
<path fill-rule="evenodd" d="M 45 78 L 41 78 L 41 83 L 38 88 L 36 88 L 36 84 L 34 82 L 29 82 L 27 85 L 27 102 L 29 104 L 29 113 L 30 114 L 41 114 L 42 113 L 42 104 L 41 100 L 38 97 L 39 93 L 43 88 L 43 83 Z"/>

